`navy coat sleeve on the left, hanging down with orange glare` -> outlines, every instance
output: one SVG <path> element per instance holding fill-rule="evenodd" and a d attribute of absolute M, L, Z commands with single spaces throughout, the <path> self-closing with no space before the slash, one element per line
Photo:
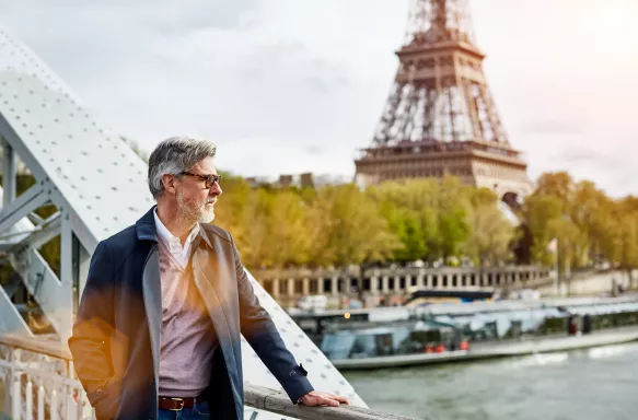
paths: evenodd
<path fill-rule="evenodd" d="M 101 242 L 91 258 L 72 336 L 69 338 L 76 372 L 93 406 L 109 394 L 116 394 L 111 383 L 113 366 L 108 352 L 115 332 L 113 301 L 113 258 L 108 245 Z"/>

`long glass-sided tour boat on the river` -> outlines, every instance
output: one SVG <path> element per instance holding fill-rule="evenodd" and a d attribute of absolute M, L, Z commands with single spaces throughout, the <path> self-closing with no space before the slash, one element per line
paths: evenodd
<path fill-rule="evenodd" d="M 441 363 L 638 340 L 638 296 L 475 302 L 297 316 L 345 369 Z M 390 315 L 392 314 L 392 315 Z"/>

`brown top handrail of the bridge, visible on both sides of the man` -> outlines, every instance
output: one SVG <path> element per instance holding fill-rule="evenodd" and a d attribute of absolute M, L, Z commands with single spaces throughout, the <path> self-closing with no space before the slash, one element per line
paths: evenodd
<path fill-rule="evenodd" d="M 72 354 L 68 346 L 58 341 L 47 341 L 18 335 L 0 335 L 0 345 L 47 354 L 65 360 L 69 364 L 72 362 Z M 290 402 L 290 398 L 285 393 L 250 383 L 244 384 L 244 402 L 247 407 L 303 420 L 410 420 L 408 417 L 387 415 L 367 408 L 345 405 L 339 407 L 295 406 Z"/>

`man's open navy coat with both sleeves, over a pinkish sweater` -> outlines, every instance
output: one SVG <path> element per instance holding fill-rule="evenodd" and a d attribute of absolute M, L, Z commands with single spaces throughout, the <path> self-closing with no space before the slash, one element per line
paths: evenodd
<path fill-rule="evenodd" d="M 69 348 L 98 419 L 156 419 L 162 300 L 154 207 L 135 225 L 100 242 Z M 242 419 L 241 335 L 292 401 L 312 390 L 259 305 L 232 236 L 201 224 L 193 272 L 219 339 L 210 386 L 202 394 L 214 419 Z"/>

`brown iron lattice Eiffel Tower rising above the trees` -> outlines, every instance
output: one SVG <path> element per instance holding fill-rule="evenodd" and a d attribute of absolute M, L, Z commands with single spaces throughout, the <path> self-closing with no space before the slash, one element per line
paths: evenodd
<path fill-rule="evenodd" d="M 396 55 L 374 139 L 355 161 L 357 183 L 453 175 L 510 206 L 530 194 L 526 163 L 510 145 L 487 85 L 467 0 L 411 0 Z"/>

